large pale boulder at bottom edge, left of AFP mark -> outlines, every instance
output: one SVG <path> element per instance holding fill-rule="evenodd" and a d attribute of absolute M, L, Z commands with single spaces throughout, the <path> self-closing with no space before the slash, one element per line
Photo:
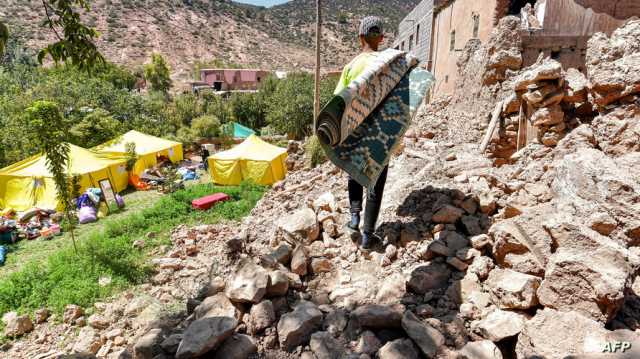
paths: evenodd
<path fill-rule="evenodd" d="M 525 323 L 516 344 L 517 358 L 565 358 L 585 354 L 588 338 L 602 338 L 605 333 L 601 323 L 577 312 L 545 308 Z M 602 353 L 605 344 L 600 343 L 598 352 Z"/>

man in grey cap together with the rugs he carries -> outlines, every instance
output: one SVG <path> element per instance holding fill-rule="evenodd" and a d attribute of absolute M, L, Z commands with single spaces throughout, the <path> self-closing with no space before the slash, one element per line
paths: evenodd
<path fill-rule="evenodd" d="M 354 232 L 360 229 L 367 189 L 361 249 L 368 250 L 380 241 L 375 225 L 391 154 L 434 78 L 404 52 L 378 51 L 384 39 L 380 18 L 363 19 L 359 38 L 362 52 L 345 66 L 335 96 L 320 111 L 315 130 L 329 159 L 349 174 L 348 228 Z"/>

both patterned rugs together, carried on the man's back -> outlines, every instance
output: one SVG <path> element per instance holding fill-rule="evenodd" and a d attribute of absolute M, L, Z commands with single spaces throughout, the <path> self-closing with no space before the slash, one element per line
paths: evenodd
<path fill-rule="evenodd" d="M 334 96 L 316 121 L 329 159 L 371 188 L 433 83 L 433 75 L 404 52 L 388 49 Z"/>

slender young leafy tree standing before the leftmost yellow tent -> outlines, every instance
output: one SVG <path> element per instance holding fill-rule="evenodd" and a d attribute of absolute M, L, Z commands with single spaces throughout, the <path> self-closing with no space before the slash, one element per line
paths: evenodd
<path fill-rule="evenodd" d="M 35 133 L 36 145 L 44 154 L 47 169 L 56 185 L 58 200 L 62 204 L 67 228 L 71 232 L 71 240 L 77 253 L 72 211 L 75 208 L 73 194 L 77 192 L 78 179 L 67 175 L 69 143 L 65 141 L 67 131 L 62 114 L 58 105 L 50 101 L 36 101 L 26 112 L 28 126 Z"/>

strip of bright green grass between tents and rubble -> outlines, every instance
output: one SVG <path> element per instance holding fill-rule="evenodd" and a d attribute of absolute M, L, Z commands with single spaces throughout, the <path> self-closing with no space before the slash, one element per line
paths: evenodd
<path fill-rule="evenodd" d="M 215 192 L 227 193 L 232 200 L 205 212 L 191 209 L 193 199 Z M 183 223 L 239 220 L 264 192 L 264 187 L 249 184 L 237 187 L 197 184 L 162 196 L 135 213 L 103 219 L 101 226 L 79 236 L 78 254 L 70 241 L 64 241 L 46 258 L 35 256 L 0 279 L 0 315 L 12 310 L 31 314 L 41 307 L 61 313 L 71 303 L 89 307 L 97 300 L 142 283 L 151 274 L 148 253 L 168 243 L 172 228 Z M 150 231 L 158 235 L 154 239 L 145 238 L 145 250 L 133 249 L 132 243 Z M 111 277 L 111 284 L 102 287 L 98 280 L 104 276 Z"/>

